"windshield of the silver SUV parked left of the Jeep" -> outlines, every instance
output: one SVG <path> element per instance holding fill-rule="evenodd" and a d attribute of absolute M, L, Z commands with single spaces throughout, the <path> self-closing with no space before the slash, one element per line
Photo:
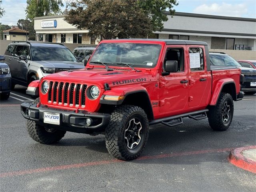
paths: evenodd
<path fill-rule="evenodd" d="M 31 47 L 31 53 L 34 61 L 73 61 L 77 62 L 76 57 L 68 48 L 61 47 Z"/>

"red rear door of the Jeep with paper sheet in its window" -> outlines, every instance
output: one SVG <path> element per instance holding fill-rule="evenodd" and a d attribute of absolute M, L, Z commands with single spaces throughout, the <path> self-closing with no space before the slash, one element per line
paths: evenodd
<path fill-rule="evenodd" d="M 207 72 L 204 46 L 187 45 L 189 63 L 188 106 L 199 109 L 207 106 L 211 90 L 211 74 Z"/>

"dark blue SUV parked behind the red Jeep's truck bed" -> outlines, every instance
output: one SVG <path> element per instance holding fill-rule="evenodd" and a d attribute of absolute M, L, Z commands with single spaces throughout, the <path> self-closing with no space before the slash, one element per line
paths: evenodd
<path fill-rule="evenodd" d="M 220 52 L 210 52 L 210 62 L 215 68 L 226 66 L 240 68 L 242 75 L 244 75 L 244 83 L 241 85 L 241 91 L 248 95 L 256 93 L 256 69 L 243 67 L 231 56 Z"/>

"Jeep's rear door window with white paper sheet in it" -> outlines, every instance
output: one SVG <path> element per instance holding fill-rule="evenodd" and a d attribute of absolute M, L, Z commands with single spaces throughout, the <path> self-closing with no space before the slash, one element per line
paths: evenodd
<path fill-rule="evenodd" d="M 190 71 L 204 70 L 204 54 L 202 48 L 189 48 Z"/>

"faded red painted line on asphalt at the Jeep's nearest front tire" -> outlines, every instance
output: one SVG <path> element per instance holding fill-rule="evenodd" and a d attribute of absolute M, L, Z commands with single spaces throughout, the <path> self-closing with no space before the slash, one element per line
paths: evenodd
<path fill-rule="evenodd" d="M 178 152 L 178 153 L 171 153 L 171 154 L 160 154 L 160 155 L 153 155 L 153 156 L 142 156 L 134 161 L 187 156 L 187 155 L 197 155 L 197 154 L 208 154 L 208 153 L 216 153 L 216 152 L 228 152 L 228 151 L 231 151 L 232 149 L 234 148 L 222 148 L 222 149 L 212 149 L 212 150 Z M 68 170 L 72 168 L 82 168 L 82 167 L 88 167 L 88 166 L 113 164 L 118 162 L 124 162 L 124 161 L 113 159 L 113 160 L 103 160 L 103 161 L 94 161 L 94 162 L 86 162 L 86 163 L 78 163 L 78 164 L 52 166 L 52 167 L 43 167 L 43 168 L 37 168 L 37 169 L 20 170 L 20 171 L 14 171 L 14 172 L 5 172 L 5 173 L 0 173 L 0 178 L 27 175 L 32 173 L 42 173 L 42 172 L 49 172 L 49 171 L 56 171 L 56 170 Z"/>

